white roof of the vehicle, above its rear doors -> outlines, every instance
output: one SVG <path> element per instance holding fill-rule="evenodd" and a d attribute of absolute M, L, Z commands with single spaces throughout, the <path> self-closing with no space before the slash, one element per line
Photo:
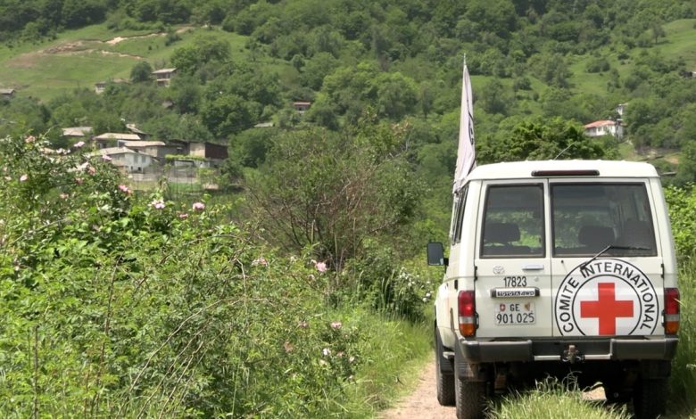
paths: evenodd
<path fill-rule="evenodd" d="M 596 179 L 601 177 L 659 177 L 657 170 L 649 164 L 637 161 L 617 160 L 528 160 L 477 166 L 468 174 L 467 180 L 525 179 L 548 176 L 532 176 L 538 170 L 597 170 L 599 176 L 553 176 Z"/>

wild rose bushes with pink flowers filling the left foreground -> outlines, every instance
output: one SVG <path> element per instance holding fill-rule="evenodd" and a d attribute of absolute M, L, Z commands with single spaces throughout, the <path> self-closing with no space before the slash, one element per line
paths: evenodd
<path fill-rule="evenodd" d="M 401 327 L 377 336 L 377 317 L 328 310 L 331 274 L 277 256 L 225 207 L 139 195 L 78 145 L 45 147 L 0 142 L 0 414 L 345 413 Z"/>

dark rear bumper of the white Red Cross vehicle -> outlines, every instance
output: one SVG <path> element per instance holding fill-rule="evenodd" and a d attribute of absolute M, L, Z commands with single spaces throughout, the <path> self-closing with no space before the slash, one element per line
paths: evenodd
<path fill-rule="evenodd" d="M 460 353 L 471 364 L 482 362 L 562 361 L 568 348 L 575 347 L 583 360 L 670 360 L 675 357 L 678 338 L 659 339 L 542 339 L 517 341 L 475 341 L 460 339 Z"/>

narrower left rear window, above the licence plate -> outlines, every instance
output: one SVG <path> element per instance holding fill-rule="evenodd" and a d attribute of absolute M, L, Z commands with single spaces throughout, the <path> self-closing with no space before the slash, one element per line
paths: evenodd
<path fill-rule="evenodd" d="M 543 185 L 487 188 L 482 258 L 543 257 L 543 236 Z"/>

